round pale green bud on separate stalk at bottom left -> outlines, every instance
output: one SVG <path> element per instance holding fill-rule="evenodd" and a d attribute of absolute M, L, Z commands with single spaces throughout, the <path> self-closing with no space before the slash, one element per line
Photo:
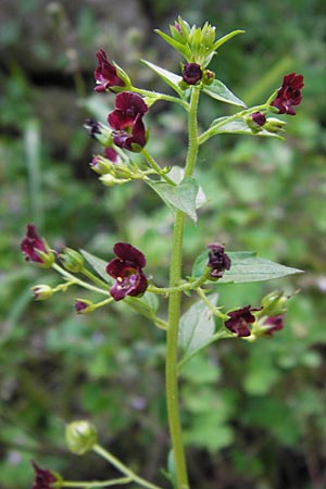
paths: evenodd
<path fill-rule="evenodd" d="M 72 453 L 84 455 L 97 443 L 97 429 L 87 421 L 70 423 L 65 427 L 65 441 Z"/>

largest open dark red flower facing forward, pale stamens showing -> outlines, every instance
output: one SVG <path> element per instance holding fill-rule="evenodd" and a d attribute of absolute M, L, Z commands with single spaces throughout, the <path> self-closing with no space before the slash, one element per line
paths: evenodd
<path fill-rule="evenodd" d="M 113 299 L 120 301 L 126 296 L 136 297 L 143 293 L 148 286 L 142 272 L 146 265 L 145 255 L 127 242 L 117 242 L 113 251 L 117 258 L 106 265 L 108 274 L 116 280 L 110 289 Z"/>

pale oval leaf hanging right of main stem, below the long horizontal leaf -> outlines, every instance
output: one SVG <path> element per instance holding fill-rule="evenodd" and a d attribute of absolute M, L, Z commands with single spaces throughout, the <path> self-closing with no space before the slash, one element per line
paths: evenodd
<path fill-rule="evenodd" d="M 218 294 L 212 293 L 208 299 L 215 304 Z M 184 351 L 183 362 L 195 352 L 210 344 L 215 333 L 212 312 L 201 300 L 195 302 L 180 318 L 178 346 Z"/>

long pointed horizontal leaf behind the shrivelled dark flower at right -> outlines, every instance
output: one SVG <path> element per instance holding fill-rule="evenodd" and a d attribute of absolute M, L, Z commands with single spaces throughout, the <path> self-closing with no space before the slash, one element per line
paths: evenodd
<path fill-rule="evenodd" d="M 227 255 L 231 260 L 230 269 L 225 271 L 223 277 L 216 283 L 209 283 L 210 285 L 264 281 L 303 273 L 298 268 L 256 258 L 255 253 L 252 252 L 227 252 Z M 195 261 L 192 277 L 198 278 L 203 274 L 208 261 L 209 251 L 204 251 Z"/>

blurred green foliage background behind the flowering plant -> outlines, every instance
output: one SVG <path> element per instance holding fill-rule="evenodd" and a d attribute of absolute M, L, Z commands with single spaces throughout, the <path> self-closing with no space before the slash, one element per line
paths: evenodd
<path fill-rule="evenodd" d="M 35 303 L 30 287 L 57 277 L 24 262 L 18 243 L 35 223 L 55 249 L 112 258 L 127 240 L 166 284 L 171 215 L 141 184 L 103 188 L 89 170 L 100 151 L 83 124 L 105 120 L 113 96 L 93 95 L 95 52 L 104 48 L 134 84 L 165 89 L 139 63 L 172 71 L 178 58 L 153 34 L 181 14 L 246 30 L 212 70 L 248 104 L 287 73 L 305 78 L 287 141 L 221 136 L 203 147 L 197 177 L 209 199 L 186 228 L 186 263 L 208 242 L 252 250 L 306 273 L 291 280 L 228 286 L 228 308 L 259 305 L 279 287 L 300 289 L 284 331 L 249 344 L 222 342 L 189 362 L 183 422 L 190 477 L 200 489 L 326 487 L 326 4 L 322 0 L 1 0 L 0 9 L 0 487 L 32 486 L 30 459 L 68 479 L 115 476 L 92 454 L 67 453 L 63 424 L 89 418 L 101 442 L 164 486 L 168 436 L 164 338 L 123 305 L 76 316 L 75 289 Z M 204 99 L 202 127 L 231 113 Z M 183 164 L 185 117 L 158 103 L 147 116 L 149 149 L 162 165 Z M 165 304 L 162 304 L 164 314 Z"/>

